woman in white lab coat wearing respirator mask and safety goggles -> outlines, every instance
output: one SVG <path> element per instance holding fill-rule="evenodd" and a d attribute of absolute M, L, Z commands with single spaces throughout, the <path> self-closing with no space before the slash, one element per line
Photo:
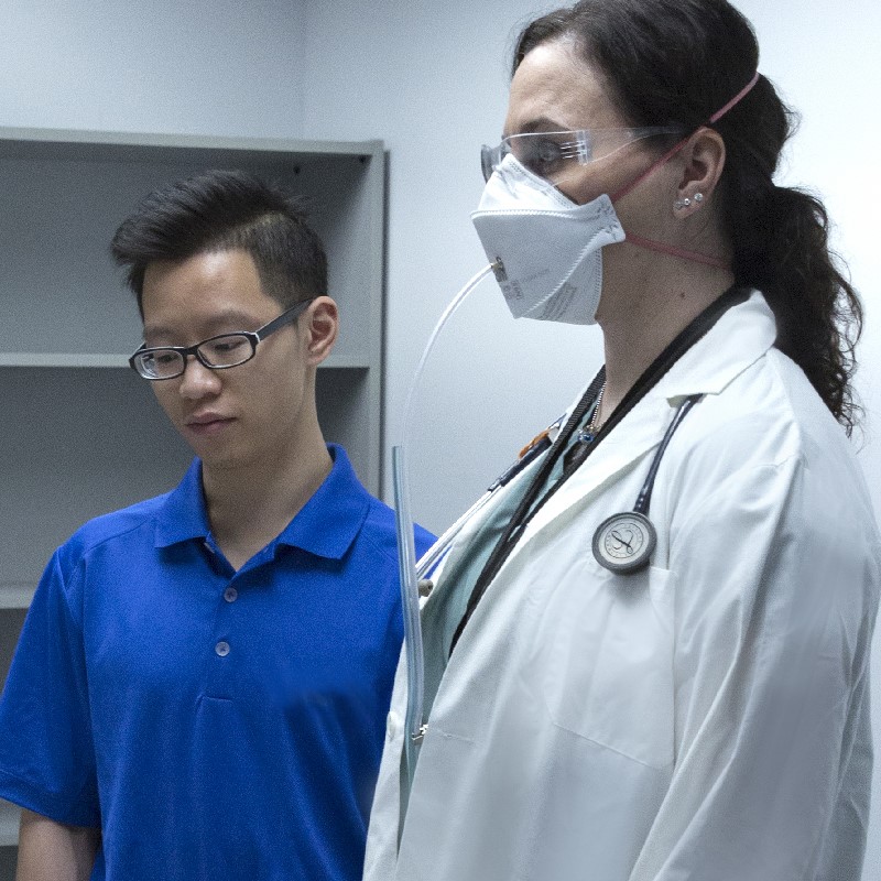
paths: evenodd
<path fill-rule="evenodd" d="M 512 312 L 596 320 L 606 365 L 432 576 L 370 881 L 859 878 L 860 307 L 823 206 L 772 181 L 788 113 L 757 65 L 725 0 L 521 35 L 475 225 Z"/>

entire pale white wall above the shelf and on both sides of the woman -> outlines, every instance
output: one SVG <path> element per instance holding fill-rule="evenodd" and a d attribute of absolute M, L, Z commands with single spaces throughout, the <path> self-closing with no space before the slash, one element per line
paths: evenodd
<path fill-rule="evenodd" d="M 0 126 L 384 139 L 392 443 L 435 320 L 483 263 L 468 214 L 482 187 L 479 146 L 501 131 L 512 35 L 553 6 L 4 0 Z M 815 186 L 838 222 L 837 240 L 867 306 L 859 388 L 870 413 L 881 414 L 874 162 L 881 4 L 737 6 L 759 31 L 763 73 L 804 113 L 785 176 Z M 591 328 L 513 323 L 485 282 L 450 323 L 421 387 L 410 445 L 416 515 L 439 529 L 460 511 L 596 369 L 598 344 Z M 868 422 L 861 455 L 881 510 L 878 418 Z M 881 881 L 881 808 L 872 819 L 866 879 Z"/>

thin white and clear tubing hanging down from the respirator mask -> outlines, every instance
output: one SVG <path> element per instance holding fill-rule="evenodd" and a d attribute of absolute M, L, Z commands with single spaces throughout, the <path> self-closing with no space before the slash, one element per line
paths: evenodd
<path fill-rule="evenodd" d="M 422 377 L 425 362 L 434 348 L 438 334 L 449 317 L 461 305 L 463 301 L 485 279 L 492 268 L 485 267 L 478 272 L 453 298 L 444 311 L 437 325 L 428 338 L 425 350 L 420 358 L 416 372 L 410 383 L 404 407 L 404 422 L 401 426 L 401 443 L 392 447 L 392 479 L 394 483 L 395 526 L 398 530 L 398 565 L 401 576 L 401 603 L 404 611 L 404 648 L 406 651 L 407 666 L 407 704 L 406 704 L 406 755 L 409 772 L 412 776 L 413 754 L 412 744 L 418 743 L 424 735 L 423 705 L 425 700 L 425 659 L 422 649 L 422 623 L 420 620 L 420 573 L 416 572 L 416 552 L 413 540 L 413 520 L 410 514 L 410 486 L 406 470 L 406 447 L 410 443 L 410 433 L 413 422 L 413 402 L 416 387 Z M 483 500 L 481 500 L 482 502 Z M 468 513 L 470 514 L 481 502 Z M 443 556 L 453 536 L 461 529 L 466 518 L 461 518 L 448 530 L 435 546 L 426 554 L 431 565 Z M 423 574 L 428 570 L 423 566 Z"/>

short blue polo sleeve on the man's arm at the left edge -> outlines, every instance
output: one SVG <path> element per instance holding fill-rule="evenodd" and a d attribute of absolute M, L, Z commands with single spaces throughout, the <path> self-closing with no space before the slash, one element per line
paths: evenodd
<path fill-rule="evenodd" d="M 61 551 L 31 602 L 0 699 L 0 796 L 58 823 L 100 825 L 83 631 Z"/>

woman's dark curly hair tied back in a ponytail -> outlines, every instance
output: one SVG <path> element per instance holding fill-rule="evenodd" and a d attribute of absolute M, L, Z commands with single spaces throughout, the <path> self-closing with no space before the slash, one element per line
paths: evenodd
<path fill-rule="evenodd" d="M 513 70 L 535 46 L 561 39 L 572 40 L 599 70 L 633 126 L 697 129 L 759 64 L 752 26 L 726 0 L 581 0 L 525 28 Z M 736 281 L 764 293 L 777 320 L 777 348 L 804 370 L 850 434 L 860 413 L 851 379 L 862 307 L 829 250 L 823 203 L 773 182 L 793 123 L 793 112 L 763 76 L 714 123 L 727 154 L 721 222 Z"/>

